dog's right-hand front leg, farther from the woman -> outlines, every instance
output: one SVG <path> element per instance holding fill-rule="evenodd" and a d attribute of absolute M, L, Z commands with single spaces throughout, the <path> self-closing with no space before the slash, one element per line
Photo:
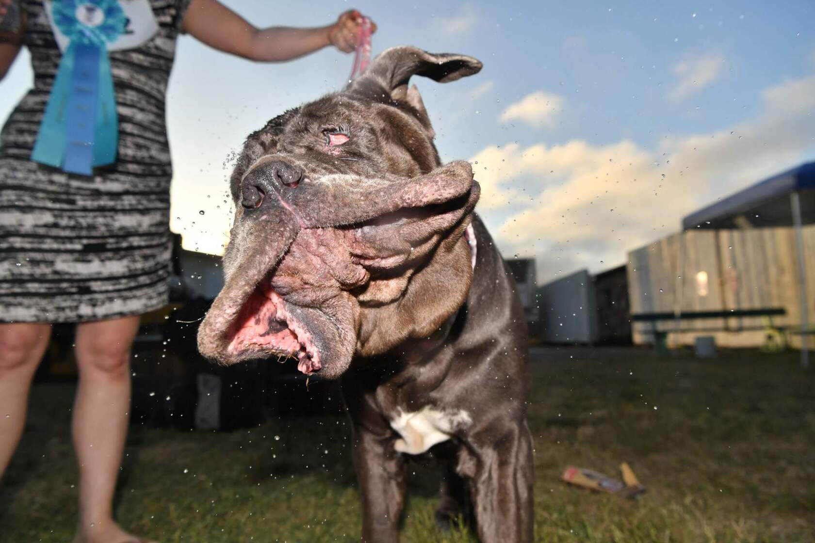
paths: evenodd
<path fill-rule="evenodd" d="M 471 480 L 482 543 L 531 543 L 534 515 L 532 440 L 526 423 L 506 430 L 496 447 L 478 450 Z"/>

